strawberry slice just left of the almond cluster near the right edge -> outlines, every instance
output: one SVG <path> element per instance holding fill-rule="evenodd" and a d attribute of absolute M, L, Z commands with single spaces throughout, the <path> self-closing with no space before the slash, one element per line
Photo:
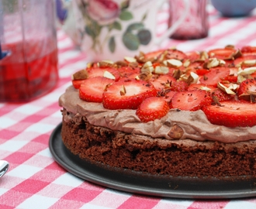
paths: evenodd
<path fill-rule="evenodd" d="M 209 73 L 205 74 L 199 79 L 201 84 L 215 86 L 218 82 L 223 81 L 225 77 L 230 74 L 230 69 L 228 67 L 214 67 L 209 69 Z"/>

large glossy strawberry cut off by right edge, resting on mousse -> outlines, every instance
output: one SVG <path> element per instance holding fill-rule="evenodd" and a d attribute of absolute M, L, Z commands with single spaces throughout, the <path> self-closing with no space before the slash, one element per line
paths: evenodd
<path fill-rule="evenodd" d="M 222 101 L 219 105 L 202 107 L 209 122 L 227 127 L 247 127 L 256 125 L 255 104 L 247 101 Z"/>

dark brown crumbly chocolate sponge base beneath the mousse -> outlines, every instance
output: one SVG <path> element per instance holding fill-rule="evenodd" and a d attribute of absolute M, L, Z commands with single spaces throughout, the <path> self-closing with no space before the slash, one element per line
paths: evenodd
<path fill-rule="evenodd" d="M 65 109 L 63 115 L 70 115 Z M 153 139 L 63 120 L 61 136 L 74 155 L 91 163 L 168 176 L 256 176 L 256 142 L 222 143 Z"/>

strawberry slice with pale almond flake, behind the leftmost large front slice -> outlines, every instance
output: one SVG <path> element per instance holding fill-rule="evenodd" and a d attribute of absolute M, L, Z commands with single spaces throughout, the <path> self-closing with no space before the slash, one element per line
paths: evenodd
<path fill-rule="evenodd" d="M 91 67 L 87 69 L 88 77 L 106 77 L 118 81 L 120 78 L 119 71 L 113 67 Z M 111 77 L 108 77 L 110 75 Z"/>

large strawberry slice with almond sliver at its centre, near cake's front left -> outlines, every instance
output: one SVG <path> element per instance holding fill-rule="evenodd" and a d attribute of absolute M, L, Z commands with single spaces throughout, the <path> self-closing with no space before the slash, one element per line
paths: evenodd
<path fill-rule="evenodd" d="M 107 109 L 137 109 L 145 98 L 154 97 L 157 90 L 153 84 L 135 79 L 120 80 L 103 93 L 103 106 Z"/>

